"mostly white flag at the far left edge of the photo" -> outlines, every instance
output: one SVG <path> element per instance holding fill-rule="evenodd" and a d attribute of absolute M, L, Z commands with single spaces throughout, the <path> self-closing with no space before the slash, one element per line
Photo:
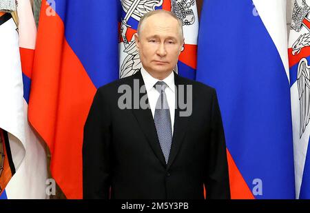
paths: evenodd
<path fill-rule="evenodd" d="M 23 78 L 17 25 L 10 13 L 0 12 L 0 195 L 25 156 Z"/>

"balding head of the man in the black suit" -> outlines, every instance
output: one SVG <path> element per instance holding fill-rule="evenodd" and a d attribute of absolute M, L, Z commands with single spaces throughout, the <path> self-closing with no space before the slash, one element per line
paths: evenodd
<path fill-rule="evenodd" d="M 145 70 L 164 79 L 176 66 L 183 47 L 182 22 L 169 11 L 148 12 L 141 18 L 134 39 Z"/>

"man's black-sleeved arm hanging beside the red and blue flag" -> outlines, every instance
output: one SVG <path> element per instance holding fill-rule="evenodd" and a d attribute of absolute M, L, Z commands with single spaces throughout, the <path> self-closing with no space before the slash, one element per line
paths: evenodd
<path fill-rule="evenodd" d="M 110 110 L 97 90 L 84 126 L 83 199 L 110 197 Z"/>

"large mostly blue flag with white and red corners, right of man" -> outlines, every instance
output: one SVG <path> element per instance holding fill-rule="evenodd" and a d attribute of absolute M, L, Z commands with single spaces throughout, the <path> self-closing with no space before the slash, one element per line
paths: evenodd
<path fill-rule="evenodd" d="M 204 1 L 196 80 L 218 93 L 232 199 L 293 199 L 293 136 L 282 0 Z"/>

